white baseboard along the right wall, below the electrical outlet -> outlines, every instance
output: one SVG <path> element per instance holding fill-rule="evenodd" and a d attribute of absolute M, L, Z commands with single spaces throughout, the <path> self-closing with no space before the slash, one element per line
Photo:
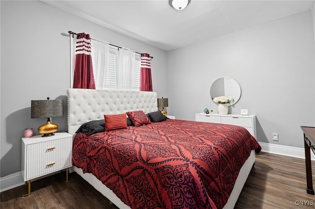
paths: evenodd
<path fill-rule="evenodd" d="M 258 142 L 258 143 L 261 146 L 262 152 L 305 159 L 304 148 L 290 147 L 290 146 L 278 145 L 278 144 L 270 144 L 270 143 L 265 143 L 265 142 Z M 311 151 L 311 159 L 315 160 L 315 155 L 312 151 Z"/>

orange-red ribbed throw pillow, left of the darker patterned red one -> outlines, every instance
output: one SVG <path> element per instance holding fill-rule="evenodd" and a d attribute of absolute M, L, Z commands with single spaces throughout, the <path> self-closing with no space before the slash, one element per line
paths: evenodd
<path fill-rule="evenodd" d="M 105 131 L 127 129 L 126 112 L 118 115 L 104 115 Z"/>

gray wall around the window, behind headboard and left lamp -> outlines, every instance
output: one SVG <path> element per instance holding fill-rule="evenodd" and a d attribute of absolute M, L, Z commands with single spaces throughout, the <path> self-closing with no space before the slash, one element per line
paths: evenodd
<path fill-rule="evenodd" d="M 64 116 L 53 118 L 66 131 L 66 89 L 70 86 L 68 30 L 87 32 L 152 60 L 153 90 L 167 97 L 166 52 L 39 1 L 0 1 L 1 7 L 1 177 L 21 171 L 21 137 L 45 119 L 31 119 L 31 100 L 63 99 Z M 119 14 L 118 14 L 119 15 Z M 114 17 L 113 17 L 114 18 Z"/>

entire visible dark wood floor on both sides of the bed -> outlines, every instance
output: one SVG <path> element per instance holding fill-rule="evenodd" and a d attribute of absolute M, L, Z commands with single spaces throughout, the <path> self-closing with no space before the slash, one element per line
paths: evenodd
<path fill-rule="evenodd" d="M 315 162 L 312 162 L 315 179 Z M 117 209 L 76 173 L 49 176 L 1 192 L 1 209 Z M 315 208 L 315 196 L 306 192 L 304 159 L 269 153 L 256 156 L 255 166 L 235 209 Z"/>

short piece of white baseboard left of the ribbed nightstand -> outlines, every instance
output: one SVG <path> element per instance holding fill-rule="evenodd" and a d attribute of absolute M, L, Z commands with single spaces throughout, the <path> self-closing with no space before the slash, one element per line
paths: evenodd
<path fill-rule="evenodd" d="M 21 171 L 0 178 L 0 192 L 25 184 Z"/>

